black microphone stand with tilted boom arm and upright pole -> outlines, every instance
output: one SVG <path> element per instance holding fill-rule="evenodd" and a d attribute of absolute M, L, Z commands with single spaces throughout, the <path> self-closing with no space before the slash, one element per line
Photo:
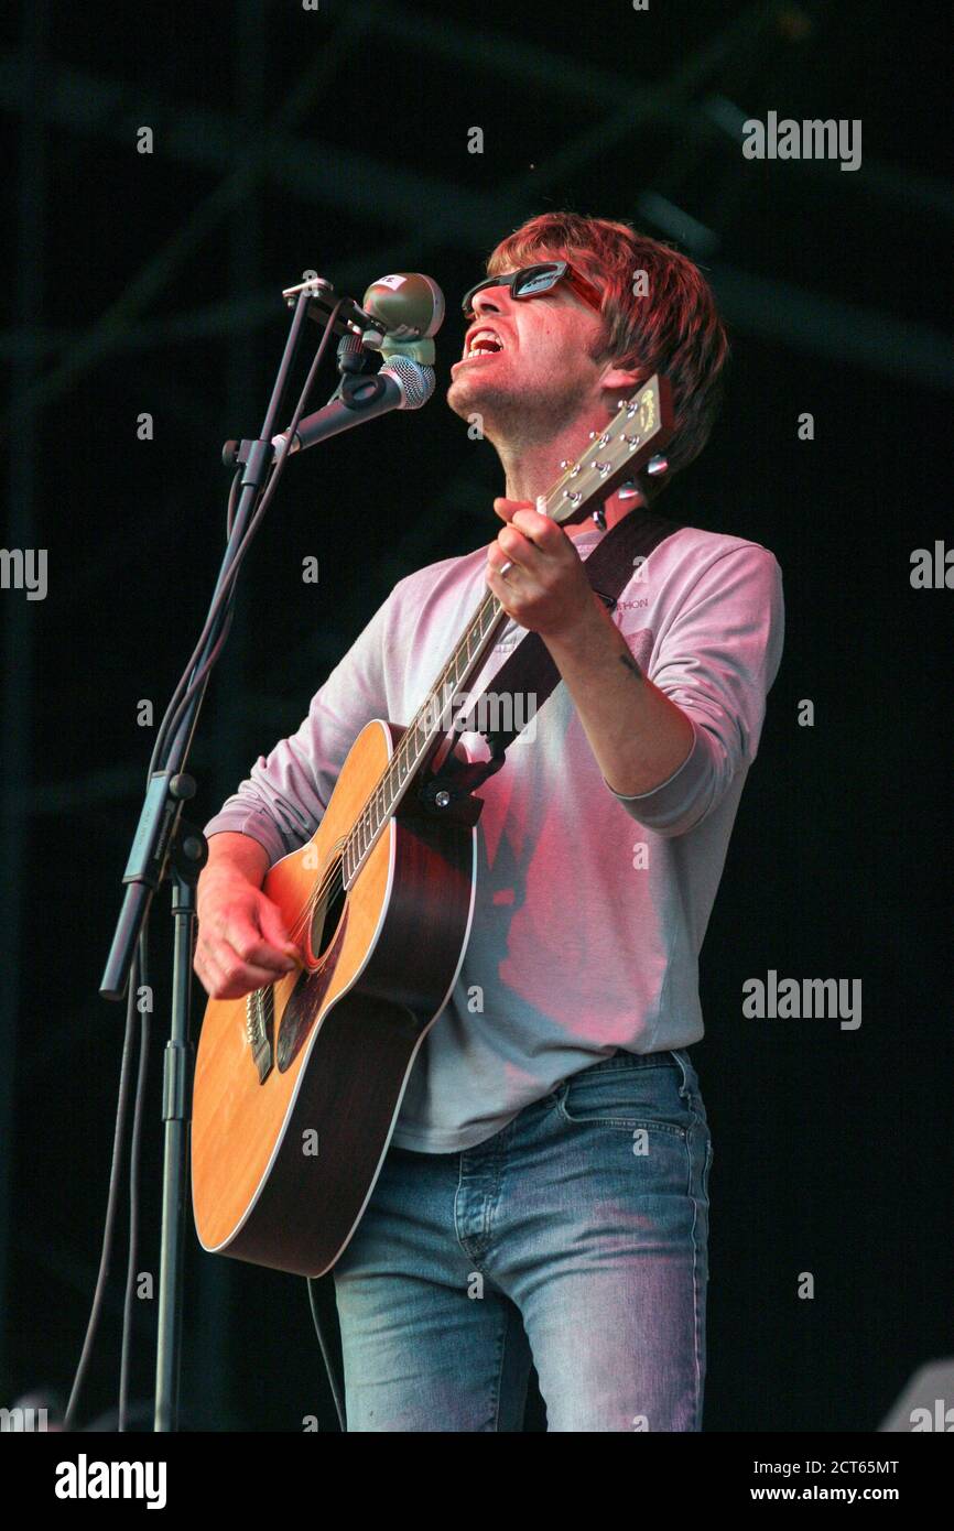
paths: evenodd
<path fill-rule="evenodd" d="M 216 609 L 217 597 L 225 589 L 231 563 L 242 547 L 274 459 L 273 436 L 277 430 L 277 415 L 300 348 L 305 317 L 312 299 L 314 291 L 308 286 L 299 291 L 294 299 L 291 329 L 262 430 L 254 441 L 248 442 L 250 450 L 242 467 L 242 490 L 213 592 L 213 609 Z M 337 309 L 332 312 L 328 329 L 332 328 L 335 315 Z M 208 638 L 191 671 L 190 680 L 194 680 L 202 672 L 204 680 L 196 686 L 182 712 L 164 761 L 159 761 L 159 769 L 150 775 L 129 862 L 123 874 L 123 882 L 126 883 L 123 908 L 100 984 L 100 994 L 104 998 L 123 998 L 129 983 L 133 954 L 139 934 L 149 919 L 153 896 L 162 882 L 172 880 L 175 942 L 172 1017 L 162 1070 L 162 1119 L 165 1125 L 153 1419 L 156 1431 L 176 1430 L 179 1421 L 182 1262 L 185 1249 L 185 1200 L 188 1188 L 188 1138 L 194 1056 L 190 1038 L 191 961 L 196 931 L 196 882 L 199 871 L 208 859 L 208 845 L 202 830 L 182 818 L 184 804 L 196 792 L 196 782 L 187 775 L 185 766 L 205 698 L 205 689 L 231 622 L 233 600 L 234 580 L 233 589 L 227 594 L 222 609 L 217 611 Z"/>

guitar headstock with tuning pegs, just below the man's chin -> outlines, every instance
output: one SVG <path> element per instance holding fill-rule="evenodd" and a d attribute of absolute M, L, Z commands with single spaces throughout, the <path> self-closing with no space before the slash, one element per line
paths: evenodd
<path fill-rule="evenodd" d="M 639 473 L 672 435 L 672 392 L 655 374 L 619 410 L 545 496 L 547 514 L 573 521 Z"/>

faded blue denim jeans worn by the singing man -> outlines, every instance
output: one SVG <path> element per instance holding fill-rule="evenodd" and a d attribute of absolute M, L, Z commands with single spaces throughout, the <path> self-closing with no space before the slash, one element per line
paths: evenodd
<path fill-rule="evenodd" d="M 335 1266 L 349 1431 L 700 1430 L 712 1139 L 684 1049 L 464 1153 L 390 1148 Z"/>

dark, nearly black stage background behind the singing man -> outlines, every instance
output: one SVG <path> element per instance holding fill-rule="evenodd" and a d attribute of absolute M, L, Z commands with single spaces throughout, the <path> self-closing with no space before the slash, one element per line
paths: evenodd
<path fill-rule="evenodd" d="M 496 534 L 496 456 L 443 403 L 456 302 L 547 208 L 631 219 L 707 269 L 732 329 L 727 400 L 663 510 L 763 542 L 786 580 L 782 668 L 703 951 L 706 1428 L 873 1430 L 916 1367 L 954 1352 L 954 597 L 910 583 L 913 550 L 952 537 L 942 15 L 870 0 L 8 9 L 3 545 L 49 550 L 49 592 L 0 592 L 2 1402 L 64 1393 L 78 1360 L 124 1023 L 96 991 L 153 738 L 136 706 L 162 715 L 199 631 L 219 449 L 259 429 L 280 289 L 317 268 L 360 297 L 423 269 L 450 320 L 424 413 L 289 464 L 191 755 L 199 819 L 297 727 L 395 579 Z M 740 124 L 769 110 L 861 118 L 862 168 L 746 161 Z M 312 407 L 332 386 L 329 366 Z M 136 438 L 142 410 L 153 441 Z M 164 894 L 149 1271 L 168 925 Z M 743 1018 L 743 981 L 770 968 L 861 978 L 861 1029 Z M 196 1023 L 201 1000 L 196 984 Z M 115 1398 L 123 1268 L 119 1246 L 84 1418 Z M 155 1303 L 135 1317 L 144 1398 Z M 193 1427 L 331 1424 L 303 1281 L 204 1255 L 190 1228 L 184 1327 Z"/>

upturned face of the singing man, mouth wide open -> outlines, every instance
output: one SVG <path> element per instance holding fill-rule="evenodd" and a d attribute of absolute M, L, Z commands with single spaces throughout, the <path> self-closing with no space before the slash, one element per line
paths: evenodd
<path fill-rule="evenodd" d="M 534 263 L 559 256 L 539 254 Z M 470 351 L 481 329 L 499 351 Z M 605 322 L 564 280 L 548 292 L 515 302 L 505 286 L 475 294 L 462 360 L 450 369 L 447 403 L 467 419 L 481 415 L 490 441 L 510 446 L 557 439 L 600 404 L 606 363 L 596 363 Z"/>

